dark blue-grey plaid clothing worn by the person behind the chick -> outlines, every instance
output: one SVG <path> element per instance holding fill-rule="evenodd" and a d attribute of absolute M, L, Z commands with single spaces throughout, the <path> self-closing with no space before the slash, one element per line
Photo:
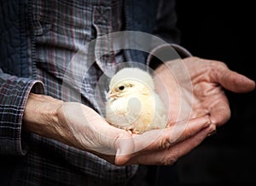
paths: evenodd
<path fill-rule="evenodd" d="M 14 0 L 1 1 L 0 10 L 0 173 L 10 175 L 6 182 L 131 184 L 137 172 L 143 172 L 139 166 L 113 166 L 94 154 L 22 131 L 26 99 L 30 92 L 72 99 L 72 91 L 62 90 L 69 62 L 84 44 L 111 32 L 154 33 L 188 55 L 177 45 L 174 2 Z M 114 66 L 125 60 L 146 63 L 145 56 L 135 51 L 127 55 L 113 52 L 96 61 L 84 77 L 82 89 L 71 87 L 82 95 L 79 101 L 100 113 L 95 89 L 102 76 L 101 65 Z"/>

